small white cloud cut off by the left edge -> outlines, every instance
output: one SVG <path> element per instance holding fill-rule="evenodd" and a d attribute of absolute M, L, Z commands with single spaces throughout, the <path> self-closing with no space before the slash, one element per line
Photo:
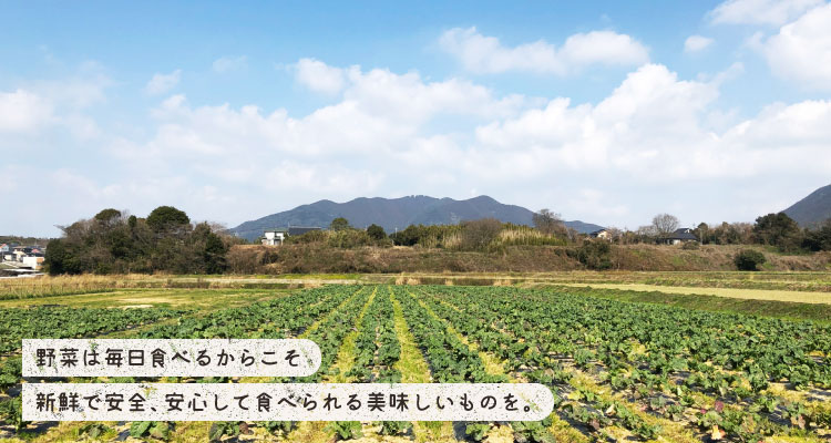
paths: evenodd
<path fill-rule="evenodd" d="M 21 89 L 0 91 L 0 133 L 32 133 L 52 119 L 52 104 Z"/>

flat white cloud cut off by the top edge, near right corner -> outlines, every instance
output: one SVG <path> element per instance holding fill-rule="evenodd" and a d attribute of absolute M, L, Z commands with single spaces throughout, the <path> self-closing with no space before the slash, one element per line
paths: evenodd
<path fill-rule="evenodd" d="M 822 0 L 728 0 L 710 11 L 714 23 L 781 25 Z"/>

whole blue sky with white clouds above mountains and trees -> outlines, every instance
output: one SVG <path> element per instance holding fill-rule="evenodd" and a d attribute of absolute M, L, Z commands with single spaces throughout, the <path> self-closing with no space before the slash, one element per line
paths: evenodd
<path fill-rule="evenodd" d="M 634 229 L 750 222 L 831 182 L 820 0 L 0 10 L 3 234 L 413 194 Z"/>

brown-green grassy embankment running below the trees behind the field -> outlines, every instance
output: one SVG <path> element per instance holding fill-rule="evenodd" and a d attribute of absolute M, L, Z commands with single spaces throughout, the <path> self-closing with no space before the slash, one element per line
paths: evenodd
<path fill-rule="evenodd" d="M 278 247 L 243 245 L 228 254 L 238 274 L 397 274 L 397 272 L 550 272 L 584 270 L 576 246 L 509 246 L 497 251 L 459 251 L 421 247 L 334 248 L 325 245 Z M 730 271 L 738 250 L 758 249 L 767 257 L 768 271 L 823 271 L 831 269 L 831 254 L 780 255 L 753 246 L 613 246 L 612 270 Z"/>

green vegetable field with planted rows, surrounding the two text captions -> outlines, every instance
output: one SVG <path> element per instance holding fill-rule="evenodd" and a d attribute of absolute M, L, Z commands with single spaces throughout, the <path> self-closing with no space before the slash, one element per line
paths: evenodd
<path fill-rule="evenodd" d="M 502 285 L 510 277 L 524 280 L 517 285 L 530 280 L 501 276 L 495 281 Z M 581 277 L 598 278 L 586 274 L 571 281 Z M 828 276 L 813 280 L 828 281 Z M 656 302 L 633 291 L 563 286 L 102 289 L 54 296 L 44 290 L 0 300 L 0 439 L 138 441 L 151 433 L 174 442 L 208 436 L 301 442 L 831 439 L 831 322 L 804 319 L 824 305 L 761 300 L 773 315 L 756 316 L 737 312 L 736 306 L 690 309 L 685 303 L 694 295 L 668 293 L 673 302 Z M 743 307 L 755 300 L 736 302 Z M 781 319 L 780 305 L 800 309 L 788 311 L 792 319 Z M 64 323 L 76 327 L 61 328 Z M 548 420 L 533 423 L 20 423 L 14 354 L 23 337 L 308 338 L 321 349 L 321 367 L 296 381 L 538 382 L 556 395 L 557 408 Z"/>

